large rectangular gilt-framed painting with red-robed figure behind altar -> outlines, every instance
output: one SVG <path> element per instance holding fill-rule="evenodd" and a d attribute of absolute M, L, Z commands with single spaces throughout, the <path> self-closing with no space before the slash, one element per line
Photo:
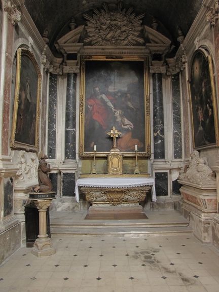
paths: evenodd
<path fill-rule="evenodd" d="M 82 56 L 80 90 L 80 156 L 107 155 L 113 127 L 124 156 L 151 155 L 147 58 Z"/>

